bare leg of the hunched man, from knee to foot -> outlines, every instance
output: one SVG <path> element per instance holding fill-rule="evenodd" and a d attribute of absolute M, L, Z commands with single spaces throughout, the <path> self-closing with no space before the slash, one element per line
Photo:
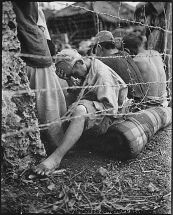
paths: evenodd
<path fill-rule="evenodd" d="M 85 115 L 86 113 L 86 108 L 83 105 L 77 106 L 74 116 L 80 117 L 74 118 L 71 121 L 60 146 L 35 168 L 34 171 L 37 174 L 48 175 L 58 168 L 63 156 L 81 137 L 85 124 L 85 116 L 82 115 Z"/>

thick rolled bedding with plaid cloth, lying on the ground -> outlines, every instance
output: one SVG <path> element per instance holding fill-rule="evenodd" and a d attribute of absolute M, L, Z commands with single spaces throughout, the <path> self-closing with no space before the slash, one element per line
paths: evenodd
<path fill-rule="evenodd" d="M 105 134 L 90 138 L 88 146 L 119 159 L 134 158 L 158 130 L 171 124 L 171 115 L 171 107 L 129 113 L 124 120 L 115 120 Z"/>

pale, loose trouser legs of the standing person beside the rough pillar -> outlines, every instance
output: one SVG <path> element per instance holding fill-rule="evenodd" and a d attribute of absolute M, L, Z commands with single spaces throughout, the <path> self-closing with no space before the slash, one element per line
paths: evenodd
<path fill-rule="evenodd" d="M 52 148 L 51 151 L 54 151 L 64 135 L 60 119 L 66 112 L 63 91 L 53 66 L 48 68 L 27 66 L 27 75 L 31 89 L 37 90 L 36 105 L 39 122 L 41 124 L 51 123 L 46 135 L 49 137 L 48 148 Z M 41 91 L 42 89 L 45 91 Z"/>

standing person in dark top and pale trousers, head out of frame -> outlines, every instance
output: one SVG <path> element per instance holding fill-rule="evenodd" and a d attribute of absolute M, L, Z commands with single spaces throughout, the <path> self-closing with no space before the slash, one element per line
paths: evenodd
<path fill-rule="evenodd" d="M 35 55 L 25 56 L 22 59 L 26 63 L 30 87 L 36 90 L 39 123 L 50 123 L 46 132 L 44 131 L 48 152 L 49 149 L 56 148 L 59 139 L 63 137 L 60 118 L 66 112 L 65 98 L 55 74 L 46 37 L 38 27 L 38 3 L 15 1 L 12 4 L 18 24 L 21 53 Z"/>

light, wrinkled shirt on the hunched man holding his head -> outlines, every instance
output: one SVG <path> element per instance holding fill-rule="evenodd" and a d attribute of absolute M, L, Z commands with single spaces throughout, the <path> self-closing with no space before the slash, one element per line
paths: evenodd
<path fill-rule="evenodd" d="M 107 110 L 106 113 L 118 118 L 117 113 L 128 101 L 128 87 L 122 78 L 103 62 L 93 58 L 84 83 L 87 88 L 82 99 L 93 101 L 96 110 Z"/>

